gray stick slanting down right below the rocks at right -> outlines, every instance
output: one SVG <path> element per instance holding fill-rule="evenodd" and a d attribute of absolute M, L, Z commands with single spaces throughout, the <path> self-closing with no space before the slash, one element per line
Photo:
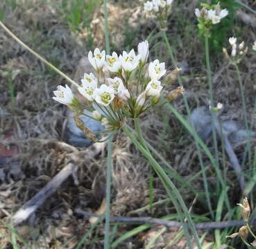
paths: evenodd
<path fill-rule="evenodd" d="M 219 120 L 215 114 L 214 114 L 213 122 L 218 135 L 220 136 L 220 138 L 223 138 L 225 151 L 228 154 L 228 158 L 230 159 L 230 163 L 234 169 L 234 172 L 236 172 L 237 174 L 241 192 L 244 192 L 244 187 L 245 187 L 244 174 L 239 164 L 239 161 L 237 159 L 237 155 L 234 153 L 232 145 L 230 144 L 230 140 L 228 140 L 228 136 L 225 133 L 221 132 L 221 124 L 219 123 Z"/>

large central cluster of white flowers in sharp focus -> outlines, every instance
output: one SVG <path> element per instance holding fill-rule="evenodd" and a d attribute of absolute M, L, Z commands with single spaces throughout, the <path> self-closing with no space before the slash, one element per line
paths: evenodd
<path fill-rule="evenodd" d="M 135 50 L 123 51 L 121 55 L 115 52 L 105 55 L 105 50 L 99 48 L 94 53 L 89 51 L 88 59 L 96 74 L 85 73 L 78 87 L 87 106 L 80 104 L 67 85 L 58 86 L 53 99 L 74 107 L 74 110 L 92 111 L 92 117 L 108 128 L 110 124 L 120 124 L 125 117 L 138 116 L 160 100 L 163 88 L 160 79 L 167 71 L 164 62 L 160 63 L 158 59 L 146 66 L 147 41 L 141 42 L 137 51 L 137 54 Z"/>

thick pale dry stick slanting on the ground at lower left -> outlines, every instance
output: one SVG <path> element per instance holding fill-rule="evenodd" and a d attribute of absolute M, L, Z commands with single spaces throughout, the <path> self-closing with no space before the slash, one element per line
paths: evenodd
<path fill-rule="evenodd" d="M 15 225 L 22 223 L 28 219 L 33 212 L 37 210 L 37 208 L 44 203 L 44 201 L 49 198 L 54 192 L 56 192 L 57 188 L 69 177 L 71 174 L 76 172 L 77 166 L 72 163 L 66 165 L 53 179 L 46 184 L 45 187 L 40 190 L 30 201 L 25 203 L 22 208 L 20 208 L 15 216 L 13 216 L 13 222 Z"/>

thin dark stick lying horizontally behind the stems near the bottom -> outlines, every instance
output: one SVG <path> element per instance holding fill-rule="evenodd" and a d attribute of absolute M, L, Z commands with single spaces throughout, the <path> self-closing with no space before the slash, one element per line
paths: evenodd
<path fill-rule="evenodd" d="M 83 215 L 85 217 L 96 216 L 100 217 L 99 214 L 92 214 L 90 212 L 85 212 L 80 210 L 79 208 L 75 210 L 76 214 Z M 165 225 L 167 228 L 180 228 L 182 223 L 178 221 L 167 221 L 163 219 L 157 219 L 152 217 L 126 217 L 126 216 L 110 216 L 110 221 L 121 221 L 121 222 L 138 222 L 138 223 L 153 223 L 157 225 Z M 256 224 L 256 219 L 250 222 L 251 225 Z M 188 224 L 187 224 L 188 225 Z M 196 223 L 196 229 L 202 230 L 210 230 L 210 229 L 221 229 L 221 228 L 230 228 L 233 226 L 241 226 L 244 225 L 244 221 L 215 221 L 215 222 L 203 222 L 203 223 Z"/>

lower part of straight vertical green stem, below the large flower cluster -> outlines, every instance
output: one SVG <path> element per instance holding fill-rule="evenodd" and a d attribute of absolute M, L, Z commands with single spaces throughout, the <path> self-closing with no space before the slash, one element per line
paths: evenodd
<path fill-rule="evenodd" d="M 107 157 L 107 187 L 105 200 L 105 237 L 104 249 L 110 248 L 110 199 L 111 199 L 111 173 L 112 173 L 112 136 L 108 139 L 108 157 Z"/>

